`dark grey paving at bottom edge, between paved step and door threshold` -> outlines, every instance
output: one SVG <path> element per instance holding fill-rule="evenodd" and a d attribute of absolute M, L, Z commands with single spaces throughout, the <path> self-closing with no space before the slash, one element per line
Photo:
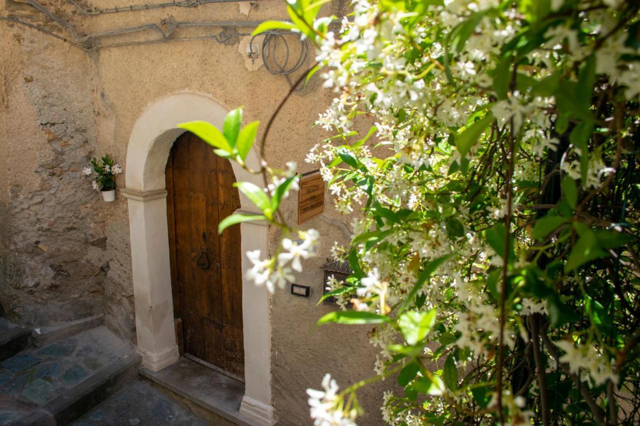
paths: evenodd
<path fill-rule="evenodd" d="M 74 426 L 205 426 L 211 423 L 180 406 L 143 379 L 84 414 Z"/>

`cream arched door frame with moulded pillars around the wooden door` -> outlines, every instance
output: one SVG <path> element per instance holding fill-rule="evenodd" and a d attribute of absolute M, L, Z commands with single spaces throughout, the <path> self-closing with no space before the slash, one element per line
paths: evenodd
<path fill-rule="evenodd" d="M 222 127 L 228 109 L 207 95 L 175 93 L 152 102 L 133 126 L 127 161 L 125 189 L 131 237 L 131 270 L 136 313 L 138 352 L 143 367 L 161 370 L 179 359 L 173 325 L 173 299 L 169 263 L 164 168 L 171 146 L 184 132 L 178 123 L 205 120 Z M 246 162 L 258 168 L 258 157 L 250 151 Z M 263 187 L 259 175 L 252 175 L 232 162 L 236 181 Z M 240 194 L 238 212 L 259 214 Z M 247 251 L 268 253 L 268 224 L 241 223 L 242 268 L 250 268 Z M 271 406 L 271 322 L 269 293 L 256 287 L 243 274 L 244 397 L 240 414 L 260 425 L 273 425 Z"/>

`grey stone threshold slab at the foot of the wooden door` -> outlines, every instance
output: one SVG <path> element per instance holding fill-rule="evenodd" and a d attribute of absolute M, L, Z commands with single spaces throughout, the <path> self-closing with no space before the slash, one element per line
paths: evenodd
<path fill-rule="evenodd" d="M 140 375 L 229 422 L 257 426 L 240 414 L 244 383 L 201 363 L 183 356 L 158 372 L 141 368 Z"/>

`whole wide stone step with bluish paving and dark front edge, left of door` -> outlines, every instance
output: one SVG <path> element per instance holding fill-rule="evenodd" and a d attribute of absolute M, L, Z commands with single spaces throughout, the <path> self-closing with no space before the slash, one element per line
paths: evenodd
<path fill-rule="evenodd" d="M 137 377 L 140 356 L 100 326 L 0 362 L 0 425 L 66 425 Z"/>

